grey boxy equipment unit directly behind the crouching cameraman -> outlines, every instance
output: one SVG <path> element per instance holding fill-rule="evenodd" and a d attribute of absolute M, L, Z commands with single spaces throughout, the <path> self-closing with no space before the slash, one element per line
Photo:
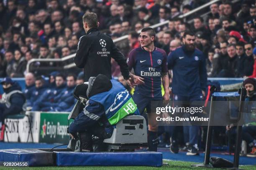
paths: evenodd
<path fill-rule="evenodd" d="M 143 116 L 129 115 L 123 118 L 113 130 L 111 138 L 105 139 L 108 151 L 134 150 L 147 144 L 147 126 Z"/>

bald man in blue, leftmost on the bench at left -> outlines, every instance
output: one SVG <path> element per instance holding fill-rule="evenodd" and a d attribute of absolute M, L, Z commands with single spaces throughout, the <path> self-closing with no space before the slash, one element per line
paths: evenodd
<path fill-rule="evenodd" d="M 28 72 L 25 75 L 26 88 L 23 90 L 24 95 L 26 96 L 27 103 L 31 101 L 31 95 L 33 90 L 35 90 L 35 76 L 32 72 Z"/>

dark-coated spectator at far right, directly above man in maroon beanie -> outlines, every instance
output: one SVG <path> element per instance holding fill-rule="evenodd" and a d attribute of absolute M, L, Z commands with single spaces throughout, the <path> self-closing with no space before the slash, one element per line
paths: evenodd
<path fill-rule="evenodd" d="M 253 73 L 253 64 L 254 64 L 254 59 L 253 59 L 253 45 L 250 43 L 246 43 L 244 45 L 246 57 L 243 62 L 243 74 L 245 76 L 250 76 Z"/>

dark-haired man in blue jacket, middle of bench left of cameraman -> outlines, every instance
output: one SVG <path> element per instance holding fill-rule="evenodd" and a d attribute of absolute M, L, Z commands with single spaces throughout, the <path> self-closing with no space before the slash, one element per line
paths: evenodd
<path fill-rule="evenodd" d="M 37 102 L 33 104 L 32 111 L 49 111 L 53 102 L 60 98 L 60 93 L 66 89 L 65 77 L 61 73 L 56 75 L 56 87 L 54 89 L 46 90 Z"/>

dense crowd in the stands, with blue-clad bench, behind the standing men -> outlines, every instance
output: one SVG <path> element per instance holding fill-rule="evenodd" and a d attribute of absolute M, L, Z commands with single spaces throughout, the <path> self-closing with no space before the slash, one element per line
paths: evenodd
<path fill-rule="evenodd" d="M 3 0 L 0 2 L 0 77 L 25 77 L 24 92 L 30 110 L 71 111 L 75 104 L 72 92 L 76 84 L 83 82 L 83 75 L 67 74 L 66 77 L 60 72 L 52 72 L 48 82 L 44 72 L 36 69 L 33 73 L 26 72 L 26 65 L 33 58 L 57 59 L 75 53 L 79 38 L 85 34 L 81 18 L 87 12 L 97 13 L 99 29 L 113 40 L 128 35 L 128 39 L 116 43 L 125 57 L 140 46 L 137 31 L 169 20 L 168 24 L 155 29 L 154 42 L 167 55 L 182 45 L 184 31 L 192 30 L 196 35 L 196 47 L 205 55 L 208 77 L 256 77 L 256 57 L 253 57 L 256 1 L 241 0 L 232 4 L 222 0 L 210 5 L 210 12 L 203 17 L 200 15 L 208 9 L 185 19 L 179 18 L 207 2 Z M 114 60 L 111 62 L 112 76 L 130 90 L 120 76 L 120 67 Z M 62 62 L 35 62 L 33 67 L 63 65 Z M 171 71 L 169 74 L 172 77 Z"/>

